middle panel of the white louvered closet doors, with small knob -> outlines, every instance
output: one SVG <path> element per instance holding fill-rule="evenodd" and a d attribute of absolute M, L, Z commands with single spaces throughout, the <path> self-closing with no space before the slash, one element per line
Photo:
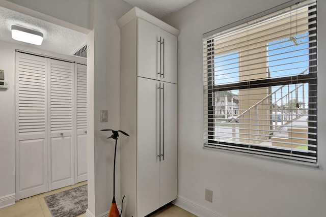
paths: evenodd
<path fill-rule="evenodd" d="M 55 190 L 74 184 L 73 72 L 74 64 L 49 59 L 50 185 Z"/>

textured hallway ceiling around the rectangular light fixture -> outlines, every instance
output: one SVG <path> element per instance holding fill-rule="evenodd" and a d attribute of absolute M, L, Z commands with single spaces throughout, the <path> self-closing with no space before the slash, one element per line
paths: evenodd
<path fill-rule="evenodd" d="M 11 38 L 11 25 L 19 25 L 43 33 L 42 44 L 32 45 L 13 40 Z M 0 40 L 71 55 L 80 46 L 85 45 L 87 35 L 0 7 Z"/>

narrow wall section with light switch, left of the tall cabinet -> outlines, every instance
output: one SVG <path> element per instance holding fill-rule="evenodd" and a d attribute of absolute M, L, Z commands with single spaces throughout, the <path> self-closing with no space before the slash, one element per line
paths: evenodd
<path fill-rule="evenodd" d="M 121 0 L 96 0 L 93 5 L 94 14 L 94 66 L 88 63 L 94 71 L 94 81 L 88 83 L 88 96 L 94 99 L 92 107 L 88 109 L 88 115 L 93 116 L 94 124 L 89 125 L 94 132 L 89 139 L 90 147 L 94 152 L 88 156 L 89 165 L 94 168 L 94 177 L 89 177 L 90 188 L 94 189 L 95 204 L 89 206 L 89 210 L 95 215 L 102 215 L 110 209 L 113 196 L 113 160 L 115 140 L 107 140 L 111 136 L 101 129 L 119 129 L 120 125 L 120 28 L 117 20 L 131 9 L 131 6 Z M 88 78 L 89 79 L 89 78 Z M 93 90 L 92 90 L 93 89 Z M 90 101 L 90 102 L 91 102 Z M 100 110 L 108 110 L 108 122 L 100 122 Z M 93 112 L 93 114 L 92 114 Z M 117 148 L 116 167 L 116 200 L 120 204 L 120 158 Z M 94 207 L 92 207 L 94 206 Z"/>

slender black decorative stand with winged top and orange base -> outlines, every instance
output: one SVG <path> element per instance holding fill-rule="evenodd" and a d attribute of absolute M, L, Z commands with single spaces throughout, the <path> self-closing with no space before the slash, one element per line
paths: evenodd
<path fill-rule="evenodd" d="M 118 207 L 117 207 L 117 203 L 116 203 L 116 197 L 115 197 L 115 185 L 116 185 L 116 153 L 117 153 L 117 141 L 118 141 L 118 137 L 119 137 L 119 133 L 121 132 L 122 134 L 129 136 L 127 133 L 118 130 L 110 130 L 110 129 L 105 129 L 105 130 L 101 130 L 101 131 L 112 131 L 112 136 L 107 137 L 107 139 L 115 139 L 116 140 L 116 146 L 114 149 L 114 167 L 113 167 L 113 199 L 112 199 L 112 204 L 110 207 L 110 212 L 108 212 L 108 217 L 121 217 L 121 213 L 122 213 L 122 209 L 123 209 L 123 200 L 124 200 L 124 196 L 122 198 L 122 202 L 121 202 L 121 213 L 119 213 Z"/>

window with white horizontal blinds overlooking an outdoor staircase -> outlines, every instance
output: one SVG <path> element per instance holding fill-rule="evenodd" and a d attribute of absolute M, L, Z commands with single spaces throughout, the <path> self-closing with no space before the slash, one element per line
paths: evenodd
<path fill-rule="evenodd" d="M 204 147 L 317 165 L 317 6 L 290 4 L 204 34 Z"/>

